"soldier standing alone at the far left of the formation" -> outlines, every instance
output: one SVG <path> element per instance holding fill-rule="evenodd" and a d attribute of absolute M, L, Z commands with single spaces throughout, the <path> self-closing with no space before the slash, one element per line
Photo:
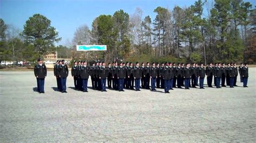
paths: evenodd
<path fill-rule="evenodd" d="M 39 93 L 44 94 L 44 79 L 47 75 L 47 69 L 41 58 L 37 59 L 37 61 L 39 63 L 36 68 L 36 77 L 38 78 Z"/>

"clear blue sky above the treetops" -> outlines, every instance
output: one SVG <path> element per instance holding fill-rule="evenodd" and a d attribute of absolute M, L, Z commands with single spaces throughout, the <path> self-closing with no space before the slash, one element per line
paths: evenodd
<path fill-rule="evenodd" d="M 256 0 L 250 2 L 255 8 Z M 99 15 L 113 15 L 123 9 L 132 15 L 136 8 L 143 10 L 143 17 L 149 15 L 153 20 L 158 6 L 172 10 L 178 5 L 181 8 L 194 4 L 195 0 L 0 0 L 0 18 L 5 24 L 12 25 L 23 31 L 29 17 L 39 13 L 51 20 L 51 26 L 59 32 L 62 40 L 57 45 L 69 45 L 79 26 L 86 24 L 91 28 L 93 20 Z M 213 0 L 207 0 L 204 15 L 211 8 Z"/>

